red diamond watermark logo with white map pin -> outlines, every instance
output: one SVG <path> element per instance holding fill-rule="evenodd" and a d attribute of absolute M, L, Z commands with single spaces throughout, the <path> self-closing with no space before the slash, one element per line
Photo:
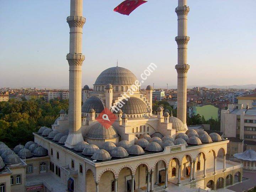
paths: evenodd
<path fill-rule="evenodd" d="M 107 108 L 99 114 L 96 120 L 102 124 L 105 129 L 110 128 L 112 124 L 116 121 L 117 117 Z"/>

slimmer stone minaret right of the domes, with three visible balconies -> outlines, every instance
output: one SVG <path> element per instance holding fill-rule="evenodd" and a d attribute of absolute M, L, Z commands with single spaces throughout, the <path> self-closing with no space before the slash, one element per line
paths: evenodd
<path fill-rule="evenodd" d="M 189 10 L 187 0 L 178 0 L 178 7 L 175 9 L 178 16 L 178 36 L 175 37 L 178 45 L 178 63 L 175 65 L 178 74 L 177 118 L 183 122 L 186 129 L 187 72 L 190 68 L 187 64 L 187 43 L 190 39 L 187 36 L 187 15 Z"/>

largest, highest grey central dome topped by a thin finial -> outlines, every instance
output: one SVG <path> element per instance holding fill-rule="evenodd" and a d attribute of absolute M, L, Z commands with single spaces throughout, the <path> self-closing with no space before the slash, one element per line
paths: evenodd
<path fill-rule="evenodd" d="M 132 71 L 115 66 L 102 71 L 94 85 L 133 85 L 136 80 Z"/>

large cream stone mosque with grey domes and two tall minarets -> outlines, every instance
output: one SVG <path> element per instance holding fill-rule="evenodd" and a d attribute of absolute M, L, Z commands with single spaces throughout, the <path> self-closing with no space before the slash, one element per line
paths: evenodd
<path fill-rule="evenodd" d="M 129 92 L 138 79 L 121 66 L 103 70 L 82 98 L 82 0 L 70 6 L 69 111 L 61 110 L 52 127 L 41 127 L 25 146 L 0 143 L 0 192 L 211 191 L 241 182 L 242 164 L 225 158 L 229 140 L 186 125 L 186 0 L 175 9 L 177 117 L 162 107 L 152 114 L 152 87 Z M 97 121 L 104 109 L 115 116 L 109 128 Z"/>

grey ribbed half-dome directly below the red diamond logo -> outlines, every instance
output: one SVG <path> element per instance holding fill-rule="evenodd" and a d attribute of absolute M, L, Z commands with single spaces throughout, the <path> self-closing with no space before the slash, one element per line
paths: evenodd
<path fill-rule="evenodd" d="M 86 138 L 89 139 L 115 139 L 118 137 L 119 135 L 112 126 L 106 129 L 100 123 L 94 124 L 86 134 Z"/>

